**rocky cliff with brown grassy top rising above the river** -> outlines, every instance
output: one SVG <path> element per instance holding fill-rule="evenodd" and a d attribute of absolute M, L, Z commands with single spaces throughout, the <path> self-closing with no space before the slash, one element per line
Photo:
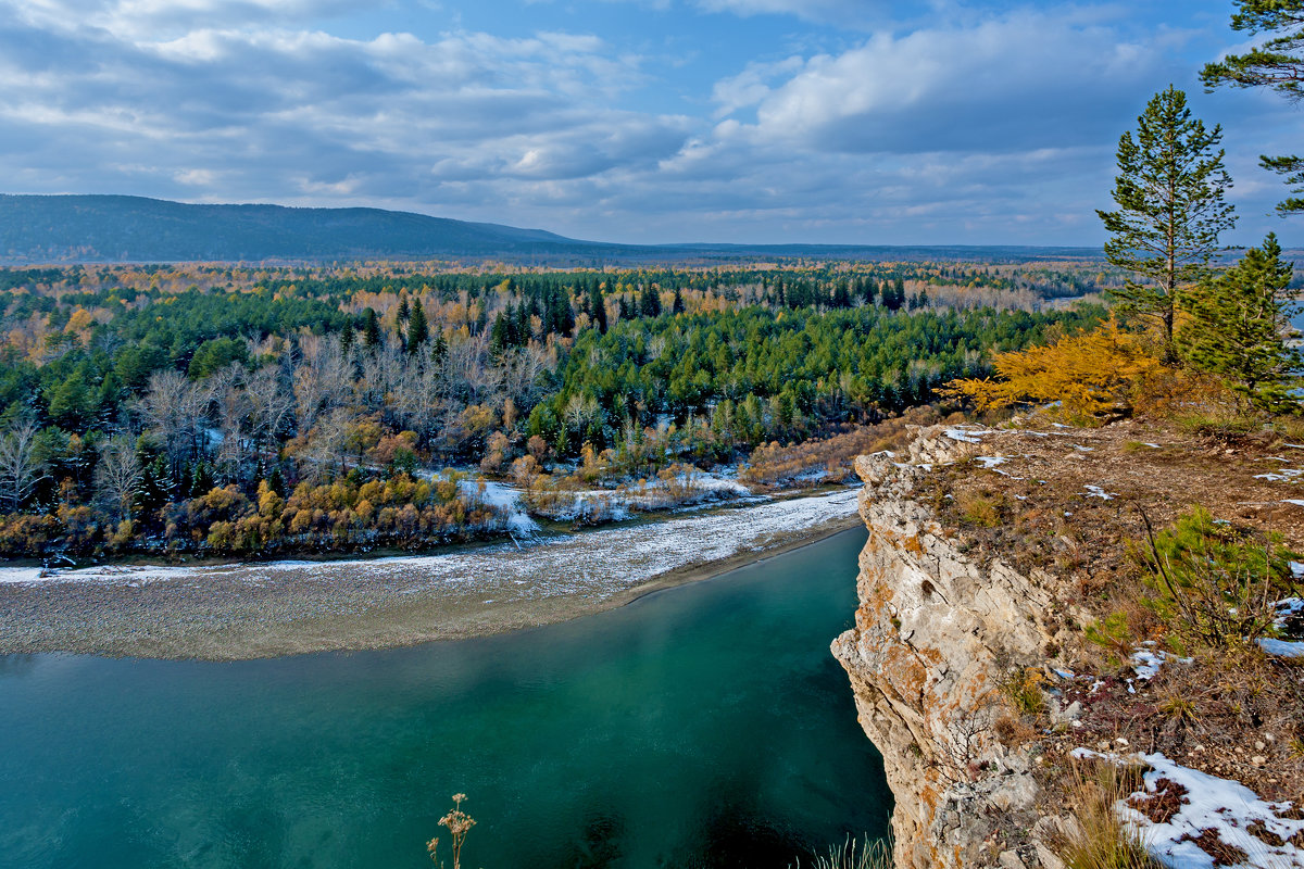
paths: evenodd
<path fill-rule="evenodd" d="M 1226 720 L 1213 732 L 1213 714 L 1153 724 L 1155 706 L 1144 704 L 1155 691 L 1189 691 L 1181 680 L 1198 679 L 1194 667 L 1142 683 L 1148 676 L 1129 668 L 1132 640 L 1107 657 L 1082 638 L 1102 616 L 1101 601 L 1124 588 L 1127 541 L 1138 533 L 1133 503 L 1157 522 L 1191 503 L 1291 532 L 1304 519 L 1304 502 L 1282 500 L 1278 481 L 1261 473 L 1275 444 L 1224 448 L 1181 436 L 1138 423 L 1037 430 L 1016 420 L 1001 431 L 923 429 L 908 453 L 857 460 L 870 537 L 855 627 L 832 650 L 896 795 L 898 869 L 1061 869 L 1052 847 L 1073 825 L 1063 773 L 1078 745 L 1149 745 L 1151 757 L 1197 758 L 1183 762 L 1210 773 L 1223 769 L 1218 757 L 1245 766 L 1234 752 L 1261 740 L 1247 735 L 1261 732 L 1251 719 L 1262 723 L 1264 714 L 1239 732 Z M 1304 681 L 1300 668 L 1283 672 Z M 1286 732 L 1292 702 L 1274 718 Z M 1295 771 L 1252 784 L 1292 796 L 1304 765 L 1286 753 L 1273 762 Z M 1281 818 L 1291 804 L 1278 805 L 1286 808 L 1273 822 L 1290 823 Z"/>

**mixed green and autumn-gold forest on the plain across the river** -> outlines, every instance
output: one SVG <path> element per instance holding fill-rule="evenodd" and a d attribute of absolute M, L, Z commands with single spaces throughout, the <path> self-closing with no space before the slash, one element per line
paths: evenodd
<path fill-rule="evenodd" d="M 0 552 L 411 550 L 510 533 L 494 481 L 582 521 L 612 513 L 566 508 L 570 490 L 657 508 L 704 470 L 775 485 L 992 354 L 1090 327 L 1103 309 L 1065 300 L 1111 280 L 1099 262 L 8 270 Z"/>

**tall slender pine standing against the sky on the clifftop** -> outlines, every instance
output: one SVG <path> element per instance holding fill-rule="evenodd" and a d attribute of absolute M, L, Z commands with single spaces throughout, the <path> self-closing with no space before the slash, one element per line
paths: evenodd
<path fill-rule="evenodd" d="M 1221 141 L 1222 126 L 1206 130 L 1191 116 L 1187 95 L 1170 85 L 1137 119 L 1137 137 L 1119 139 L 1118 211 L 1097 211 L 1111 236 L 1106 258 L 1141 278 L 1114 291 L 1119 309 L 1159 321 L 1170 362 L 1179 297 L 1209 275 L 1218 235 L 1236 221 L 1223 199 L 1231 178 L 1223 151 L 1214 150 Z"/>

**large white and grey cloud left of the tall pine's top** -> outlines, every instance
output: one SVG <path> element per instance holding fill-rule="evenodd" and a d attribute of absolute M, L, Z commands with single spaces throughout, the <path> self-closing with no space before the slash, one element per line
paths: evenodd
<path fill-rule="evenodd" d="M 754 107 L 754 137 L 846 152 L 1017 150 L 1099 142 L 1162 55 L 1104 26 L 1017 12 L 960 29 L 878 34 L 818 55 L 778 85 L 716 87 Z"/>

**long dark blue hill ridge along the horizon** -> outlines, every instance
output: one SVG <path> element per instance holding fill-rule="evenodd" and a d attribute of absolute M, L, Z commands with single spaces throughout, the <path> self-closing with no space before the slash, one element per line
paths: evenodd
<path fill-rule="evenodd" d="M 1024 262 L 1099 255 L 1099 249 L 1088 248 L 614 245 L 382 208 L 0 194 L 0 264 L 466 258 L 600 266 L 758 258 Z"/>

